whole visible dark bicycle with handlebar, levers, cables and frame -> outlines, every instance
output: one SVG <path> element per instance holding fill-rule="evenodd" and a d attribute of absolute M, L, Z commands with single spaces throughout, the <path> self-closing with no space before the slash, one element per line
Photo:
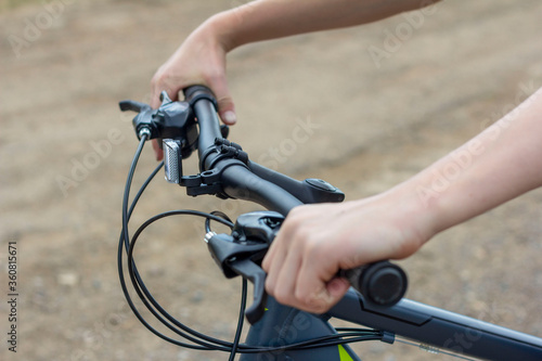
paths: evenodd
<path fill-rule="evenodd" d="M 246 153 L 242 152 L 241 146 L 225 140 L 227 129 L 224 129 L 224 126 L 219 127 L 219 119 L 216 114 L 216 100 L 212 93 L 205 87 L 190 87 L 184 92 L 188 100 L 184 102 L 172 102 L 168 99 L 167 93 L 164 92 L 162 98 L 163 104 L 158 109 L 153 109 L 147 104 L 133 101 L 124 101 L 119 104 L 121 111 L 139 113 L 133 119 L 133 126 L 140 139 L 140 145 L 128 173 L 122 199 L 122 230 L 117 257 L 120 283 L 130 308 L 138 319 L 154 334 L 182 347 L 199 350 L 231 351 L 230 359 L 233 360 L 233 357 L 240 349 L 242 313 L 240 313 L 240 323 L 235 339 L 231 344 L 202 335 L 177 320 L 171 319 L 159 304 L 154 300 L 136 269 L 133 248 L 139 234 L 146 227 L 164 217 L 192 215 L 206 218 L 208 233 L 205 235 L 205 240 L 211 250 L 212 257 L 219 263 L 224 275 L 227 278 L 242 275 L 243 279 L 255 284 L 255 300 L 251 307 L 245 310 L 246 281 L 243 282 L 241 301 L 242 310 L 245 310 L 247 320 L 254 323 L 263 313 L 266 305 L 263 286 L 266 273 L 261 269 L 260 262 L 279 231 L 284 217 L 292 208 L 301 204 L 341 202 L 344 194 L 325 181 L 317 179 L 307 179 L 302 182 L 297 181 L 250 162 Z M 178 166 L 181 165 L 182 158 L 186 158 L 193 151 L 198 149 L 202 171 L 198 176 L 182 177 L 182 168 L 170 167 L 168 169 L 166 160 L 164 162 L 166 164 L 166 177 L 168 181 L 185 186 L 189 195 L 217 194 L 223 197 L 242 198 L 259 203 L 266 208 L 276 211 L 244 214 L 237 218 L 235 224 L 225 215 L 219 215 L 219 212 L 206 214 L 186 209 L 168 211 L 149 219 L 130 240 L 128 220 L 143 190 L 160 169 L 162 165 L 143 183 L 128 209 L 132 177 L 143 149 L 143 143 L 149 139 L 156 138 L 170 138 L 164 142 L 168 146 L 168 149 L 165 149 L 165 155 L 170 155 L 170 159 L 178 162 Z M 167 154 L 168 150 L 172 150 L 170 154 Z M 171 178 L 168 175 L 171 175 Z M 232 228 L 231 234 L 216 234 L 210 231 L 208 224 L 210 220 Z M 140 314 L 126 287 L 122 272 L 122 248 L 126 248 L 130 279 L 139 297 L 162 323 L 191 343 L 172 339 L 159 333 Z M 291 326 L 296 325 L 297 315 L 304 312 L 278 305 L 271 298 L 269 299 L 269 310 L 266 312 L 266 317 L 256 327 L 251 328 L 242 351 L 244 353 L 256 354 L 256 352 L 262 352 L 263 356 L 272 356 L 275 351 L 284 352 L 288 350 L 289 352 L 292 350 L 292 353 L 286 356 L 288 359 L 289 354 L 297 354 L 299 351 L 301 352 L 299 354 L 302 356 L 302 360 L 312 360 L 313 353 L 312 351 L 305 353 L 304 350 L 306 347 L 318 347 L 318 352 L 321 354 L 320 358 L 328 359 L 328 353 L 324 353 L 323 351 L 328 349 L 327 346 L 339 345 L 339 353 L 343 354 L 345 349 L 341 349 L 340 346 L 344 343 L 362 339 L 347 340 L 343 338 L 345 334 L 333 333 L 335 330 L 333 327 L 330 328 L 330 325 L 326 323 L 326 320 L 333 317 L 374 327 L 375 330 L 370 331 L 370 334 L 364 333 L 365 337 L 363 339 L 380 339 L 386 343 L 392 343 L 393 334 L 397 333 L 408 338 L 437 347 L 443 346 L 454 351 L 453 348 L 449 347 L 450 339 L 455 337 L 453 335 L 470 332 L 478 335 L 477 339 L 480 338 L 480 340 L 473 344 L 473 348 L 466 350 L 465 354 L 503 360 L 517 357 L 518 354 L 526 360 L 538 360 L 540 358 L 542 343 L 540 339 L 529 335 L 502 327 L 499 328 L 491 324 L 482 324 L 478 320 L 429 308 L 410 300 L 403 300 L 401 304 L 389 309 L 383 308 L 382 306 L 390 306 L 390 304 L 402 298 L 406 288 L 405 273 L 399 267 L 388 261 L 379 261 L 351 270 L 341 270 L 338 272 L 338 275 L 348 279 L 352 287 L 359 291 L 363 297 L 350 289 L 328 313 L 321 317 L 305 314 L 304 317 L 310 318 L 309 322 L 306 323 L 311 325 L 309 328 L 310 332 L 309 330 L 307 332 L 304 331 L 301 336 L 296 336 L 292 340 L 288 340 L 286 347 L 274 347 L 273 343 L 279 338 L 273 338 L 271 335 L 274 334 L 271 331 L 276 331 L 278 333 L 280 331 L 280 337 L 282 337 L 283 332 L 287 333 Z M 364 302 L 365 300 L 369 304 Z M 282 328 L 279 330 L 279 327 Z M 386 331 L 379 332 L 377 330 Z M 336 331 L 339 330 L 337 328 Z M 351 335 L 349 330 L 345 331 L 348 332 L 348 335 Z M 331 339 L 333 341 L 330 341 Z M 282 338 L 280 340 L 282 344 Z M 452 343 L 451 345 L 455 344 Z M 336 348 L 332 347 L 328 350 L 331 351 L 330 354 L 333 353 L 334 360 L 337 359 L 335 357 L 337 352 Z M 343 359 L 341 356 L 339 358 Z M 247 359 L 253 360 L 255 358 Z"/>

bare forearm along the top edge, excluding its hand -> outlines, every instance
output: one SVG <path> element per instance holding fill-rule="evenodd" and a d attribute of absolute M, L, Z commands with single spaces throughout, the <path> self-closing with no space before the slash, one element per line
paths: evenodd
<path fill-rule="evenodd" d="M 212 26 L 232 50 L 249 42 L 366 24 L 428 4 L 423 0 L 257 0 L 217 14 L 204 26 Z"/>

